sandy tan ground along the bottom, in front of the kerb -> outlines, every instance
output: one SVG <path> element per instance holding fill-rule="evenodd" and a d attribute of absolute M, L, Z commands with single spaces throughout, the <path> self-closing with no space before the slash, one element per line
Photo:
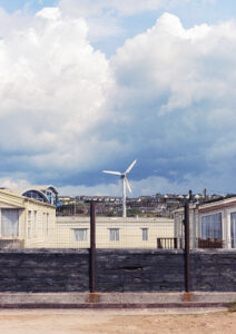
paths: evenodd
<path fill-rule="evenodd" d="M 164 312 L 164 311 L 161 311 Z M 0 311 L 1 334 L 236 334 L 236 313 L 160 314 L 157 310 Z M 191 311 L 193 312 L 193 311 Z"/>

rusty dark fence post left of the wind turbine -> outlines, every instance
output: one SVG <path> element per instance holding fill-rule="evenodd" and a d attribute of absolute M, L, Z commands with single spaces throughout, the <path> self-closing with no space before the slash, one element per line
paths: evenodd
<path fill-rule="evenodd" d="M 96 204 L 90 204 L 90 293 L 96 292 Z"/>

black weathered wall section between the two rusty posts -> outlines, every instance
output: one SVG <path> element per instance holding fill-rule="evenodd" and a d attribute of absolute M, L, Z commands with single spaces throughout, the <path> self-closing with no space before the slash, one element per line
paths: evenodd
<path fill-rule="evenodd" d="M 184 291 L 183 250 L 98 249 L 99 292 Z"/>

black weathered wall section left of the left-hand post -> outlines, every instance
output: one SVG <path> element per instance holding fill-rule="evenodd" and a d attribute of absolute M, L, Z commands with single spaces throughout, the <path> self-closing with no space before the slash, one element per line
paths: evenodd
<path fill-rule="evenodd" d="M 89 291 L 88 249 L 0 252 L 0 292 L 86 291 Z"/>

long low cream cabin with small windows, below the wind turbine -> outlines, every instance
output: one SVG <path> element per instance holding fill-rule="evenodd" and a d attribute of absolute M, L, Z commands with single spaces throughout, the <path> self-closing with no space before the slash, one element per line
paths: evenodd
<path fill-rule="evenodd" d="M 57 217 L 55 244 L 59 247 L 88 248 L 90 218 Z M 157 238 L 174 237 L 174 220 L 164 217 L 97 217 L 97 248 L 157 248 Z"/>

